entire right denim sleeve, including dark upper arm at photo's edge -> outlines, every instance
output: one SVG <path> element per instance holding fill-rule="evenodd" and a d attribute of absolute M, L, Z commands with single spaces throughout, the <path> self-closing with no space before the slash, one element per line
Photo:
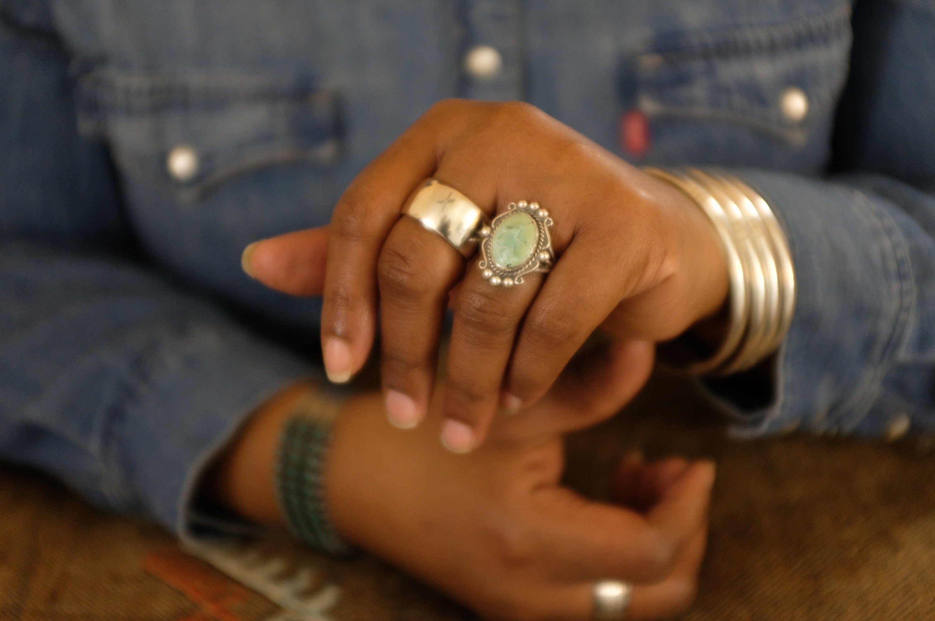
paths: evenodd
<path fill-rule="evenodd" d="M 857 0 L 830 178 L 740 173 L 781 219 L 798 281 L 765 386 L 709 383 L 741 435 L 935 431 L 933 40 L 931 2 Z"/>

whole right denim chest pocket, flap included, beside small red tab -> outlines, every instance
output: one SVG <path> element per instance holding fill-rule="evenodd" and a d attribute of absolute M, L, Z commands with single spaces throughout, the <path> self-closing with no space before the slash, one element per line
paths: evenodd
<path fill-rule="evenodd" d="M 796 21 L 656 35 L 630 58 L 625 83 L 629 105 L 652 123 L 647 155 L 791 169 L 823 163 L 850 43 L 849 6 Z M 693 135 L 696 148 L 685 144 Z"/>

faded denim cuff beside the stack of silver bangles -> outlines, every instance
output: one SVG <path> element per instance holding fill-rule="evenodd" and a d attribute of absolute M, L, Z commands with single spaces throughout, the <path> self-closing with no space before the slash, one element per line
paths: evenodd
<path fill-rule="evenodd" d="M 783 226 L 796 271 L 796 310 L 783 345 L 763 367 L 702 384 L 734 417 L 737 436 L 795 428 L 885 433 L 892 421 L 874 406 L 913 314 L 905 238 L 912 223 L 882 197 L 845 185 L 735 174 L 760 192 Z"/>

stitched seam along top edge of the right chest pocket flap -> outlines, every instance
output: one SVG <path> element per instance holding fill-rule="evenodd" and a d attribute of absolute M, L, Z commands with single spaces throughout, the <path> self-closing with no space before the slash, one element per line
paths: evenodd
<path fill-rule="evenodd" d="M 656 49 L 667 63 L 767 53 L 825 42 L 850 32 L 851 7 L 835 7 L 817 17 L 772 26 L 748 26 L 720 33 L 690 34 L 682 49 Z M 698 38 L 692 39 L 692 36 Z"/>

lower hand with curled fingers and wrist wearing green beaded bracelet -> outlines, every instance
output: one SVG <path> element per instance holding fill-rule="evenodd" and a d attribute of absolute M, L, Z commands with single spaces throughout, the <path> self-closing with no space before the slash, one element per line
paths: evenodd
<path fill-rule="evenodd" d="M 255 417 L 215 477 L 220 498 L 259 521 L 281 521 L 272 459 L 284 411 Z M 604 504 L 559 485 L 557 436 L 492 442 L 457 457 L 435 441 L 439 393 L 419 430 L 393 430 L 384 416 L 379 395 L 363 396 L 346 405 L 333 432 L 325 499 L 349 542 L 485 618 L 588 619 L 591 587 L 602 579 L 634 584 L 628 619 L 669 617 L 690 605 L 712 463 L 625 459 L 614 490 L 626 506 Z"/>

